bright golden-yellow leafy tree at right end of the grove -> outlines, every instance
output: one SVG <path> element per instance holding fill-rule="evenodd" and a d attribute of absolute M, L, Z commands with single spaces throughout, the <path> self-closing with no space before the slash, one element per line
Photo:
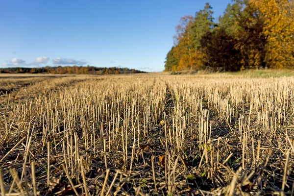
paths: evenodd
<path fill-rule="evenodd" d="M 294 68 L 294 0 L 250 0 L 263 21 L 265 62 L 271 68 Z"/>

